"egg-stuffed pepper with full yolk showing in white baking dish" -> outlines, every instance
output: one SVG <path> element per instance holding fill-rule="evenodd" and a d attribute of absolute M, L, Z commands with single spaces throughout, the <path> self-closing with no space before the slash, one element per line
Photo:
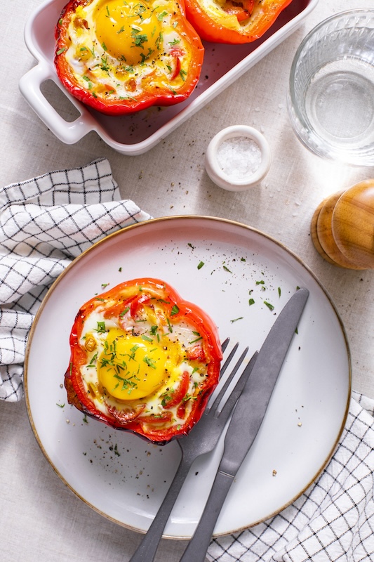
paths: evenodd
<path fill-rule="evenodd" d="M 184 0 L 70 0 L 55 39 L 62 84 L 107 115 L 182 102 L 199 81 L 203 46 Z"/>

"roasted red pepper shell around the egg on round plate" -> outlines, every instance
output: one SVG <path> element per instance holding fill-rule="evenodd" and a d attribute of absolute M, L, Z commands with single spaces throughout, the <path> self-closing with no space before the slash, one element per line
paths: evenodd
<path fill-rule="evenodd" d="M 183 372 L 178 386 L 175 386 L 175 391 L 163 398 L 161 403 L 163 407 L 156 415 L 145 411 L 142 400 L 128 400 L 126 407 L 123 407 L 122 403 L 118 410 L 115 406 L 111 406 L 107 412 L 102 412 L 86 391 L 81 375 L 81 367 L 88 363 L 88 351 L 80 344 L 84 333 L 84 322 L 88 315 L 98 307 L 102 307 L 105 301 L 110 303 L 105 308 L 105 319 L 115 320 L 121 325 L 124 313 L 131 315 L 131 318 L 136 318 L 143 306 L 152 306 L 152 299 L 153 301 L 159 299 L 162 303 L 163 310 L 166 312 L 165 318 L 168 319 L 171 327 L 173 324 L 184 322 L 193 332 L 199 332 L 199 341 L 187 348 L 185 357 L 206 366 L 207 376 L 199 384 L 199 392 L 196 392 L 194 399 L 189 400 L 189 373 Z M 172 287 L 161 280 L 149 278 L 131 280 L 95 296 L 85 303 L 76 315 L 69 343 L 71 356 L 69 368 L 65 373 L 69 404 L 115 429 L 132 431 L 152 443 L 163 445 L 175 437 L 187 434 L 196 421 L 199 421 L 209 396 L 218 384 L 222 349 L 217 327 L 201 308 L 181 299 Z M 186 400 L 189 403 L 188 412 Z M 172 407 L 178 412 L 178 417 L 183 419 L 183 423 L 178 422 L 178 425 L 170 423 L 172 412 L 169 409 Z"/>

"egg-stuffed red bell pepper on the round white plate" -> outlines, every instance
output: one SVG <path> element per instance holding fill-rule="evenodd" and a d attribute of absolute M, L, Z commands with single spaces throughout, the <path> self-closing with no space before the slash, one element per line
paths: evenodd
<path fill-rule="evenodd" d="M 135 279 L 81 307 L 65 374 L 70 404 L 155 443 L 187 434 L 218 384 L 218 330 L 165 282 Z"/>

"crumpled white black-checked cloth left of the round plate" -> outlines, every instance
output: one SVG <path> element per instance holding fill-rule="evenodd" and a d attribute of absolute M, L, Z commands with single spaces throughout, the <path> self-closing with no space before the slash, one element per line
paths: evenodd
<path fill-rule="evenodd" d="M 107 159 L 0 190 L 0 400 L 23 396 L 27 336 L 51 283 L 100 238 L 149 218 L 120 199 Z"/>

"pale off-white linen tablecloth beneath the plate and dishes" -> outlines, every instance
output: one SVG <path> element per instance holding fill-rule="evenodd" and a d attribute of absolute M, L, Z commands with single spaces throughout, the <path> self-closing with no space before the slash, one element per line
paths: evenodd
<path fill-rule="evenodd" d="M 373 272 L 330 266 L 316 253 L 309 236 L 310 220 L 321 200 L 374 177 L 374 169 L 322 162 L 309 154 L 290 129 L 285 102 L 290 64 L 305 34 L 333 13 L 372 8 L 373 0 L 319 0 L 299 30 L 138 157 L 114 152 L 95 133 L 76 145 L 62 144 L 20 95 L 18 81 L 35 64 L 25 48 L 23 27 L 40 5 L 41 0 L 1 4 L 0 186 L 107 157 L 121 197 L 152 216 L 223 216 L 274 236 L 295 251 L 328 289 L 347 332 L 353 387 L 374 398 Z M 58 98 L 64 115 L 72 114 L 69 103 L 50 84 L 46 91 Z M 209 180 L 203 157 L 216 132 L 238 123 L 265 134 L 272 166 L 260 188 L 232 193 Z M 140 542 L 136 533 L 86 507 L 55 475 L 30 429 L 24 401 L 0 401 L 0 497 L 0 559 L 6 562 L 126 562 Z M 156 562 L 178 561 L 184 547 L 183 542 L 163 540 Z"/>

